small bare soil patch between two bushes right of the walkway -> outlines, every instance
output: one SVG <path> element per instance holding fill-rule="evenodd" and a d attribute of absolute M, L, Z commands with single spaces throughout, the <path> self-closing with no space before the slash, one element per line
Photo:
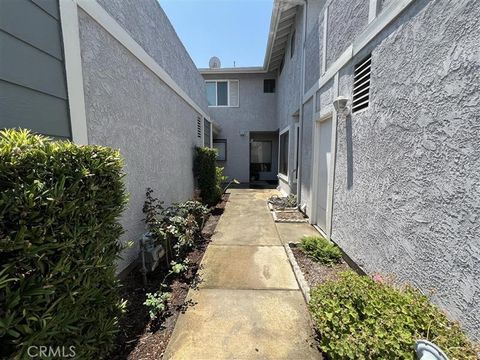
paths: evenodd
<path fill-rule="evenodd" d="M 340 264 L 325 266 L 312 260 L 297 246 L 290 244 L 290 248 L 310 288 L 314 288 L 328 280 L 336 280 L 342 271 L 350 269 L 343 260 Z"/>

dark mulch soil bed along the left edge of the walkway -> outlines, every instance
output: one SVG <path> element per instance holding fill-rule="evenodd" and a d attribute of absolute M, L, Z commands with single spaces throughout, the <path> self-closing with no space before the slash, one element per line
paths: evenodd
<path fill-rule="evenodd" d="M 147 307 L 143 302 L 146 293 L 153 293 L 159 289 L 165 276 L 165 268 L 156 269 L 149 274 L 148 285 L 145 287 L 139 269 L 134 269 L 121 282 L 121 296 L 128 301 L 127 309 L 123 318 L 120 319 L 120 333 L 115 342 L 115 349 L 108 359 L 157 360 L 162 358 L 178 315 L 190 306 L 185 303 L 185 298 L 188 290 L 195 288 L 200 281 L 197 277 L 200 262 L 227 201 L 228 194 L 225 194 L 205 222 L 202 239 L 188 255 L 190 263 L 188 271 L 171 280 L 169 284 L 171 297 L 164 317 L 150 320 Z"/>

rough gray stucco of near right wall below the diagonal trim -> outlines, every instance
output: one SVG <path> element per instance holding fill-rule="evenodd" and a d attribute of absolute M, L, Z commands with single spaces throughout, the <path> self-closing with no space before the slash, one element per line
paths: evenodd
<path fill-rule="evenodd" d="M 419 1 L 388 33 L 370 108 L 338 119 L 332 238 L 370 273 L 435 289 L 478 339 L 480 6 Z"/>

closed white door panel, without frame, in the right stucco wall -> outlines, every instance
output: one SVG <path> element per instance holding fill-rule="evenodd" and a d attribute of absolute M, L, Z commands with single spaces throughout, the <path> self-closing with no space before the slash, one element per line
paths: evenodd
<path fill-rule="evenodd" d="M 331 151 L 332 151 L 332 118 L 317 122 L 318 136 L 318 166 L 317 166 L 317 211 L 316 222 L 323 230 L 327 231 L 327 202 L 328 202 L 328 179 L 330 178 Z"/>

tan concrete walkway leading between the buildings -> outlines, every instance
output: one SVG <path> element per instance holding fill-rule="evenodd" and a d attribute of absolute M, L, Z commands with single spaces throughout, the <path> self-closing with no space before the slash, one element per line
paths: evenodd
<path fill-rule="evenodd" d="M 202 261 L 195 305 L 164 359 L 320 359 L 310 317 L 266 206 L 270 190 L 231 190 Z"/>

